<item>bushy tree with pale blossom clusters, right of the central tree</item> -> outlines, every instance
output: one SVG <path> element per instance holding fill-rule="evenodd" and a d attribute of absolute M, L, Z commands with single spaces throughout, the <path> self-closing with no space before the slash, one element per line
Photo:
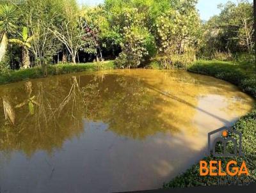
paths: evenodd
<path fill-rule="evenodd" d="M 157 17 L 156 36 L 159 52 L 181 54 L 186 45 L 195 44 L 200 20 L 195 7 L 190 4 L 187 6 L 188 8 L 182 4 L 181 10 L 171 8 Z M 185 12 L 187 9 L 189 11 Z"/>

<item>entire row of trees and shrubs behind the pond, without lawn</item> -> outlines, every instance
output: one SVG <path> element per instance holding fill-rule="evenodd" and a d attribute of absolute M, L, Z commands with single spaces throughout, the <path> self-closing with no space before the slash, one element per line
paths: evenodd
<path fill-rule="evenodd" d="M 253 4 L 220 5 L 200 20 L 196 0 L 2 0 L 0 70 L 115 59 L 116 68 L 188 68 L 196 59 L 255 61 Z"/>

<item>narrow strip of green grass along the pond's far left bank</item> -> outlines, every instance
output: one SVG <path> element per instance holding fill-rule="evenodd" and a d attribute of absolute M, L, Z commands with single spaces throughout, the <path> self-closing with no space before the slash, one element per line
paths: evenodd
<path fill-rule="evenodd" d="M 40 77 L 47 77 L 49 75 L 60 75 L 65 73 L 93 71 L 93 70 L 107 70 L 114 68 L 113 61 L 98 62 L 98 63 L 83 63 L 83 64 L 59 64 L 47 65 L 44 67 L 33 67 L 23 70 L 12 70 L 9 72 L 0 73 L 0 84 L 7 84 L 10 82 L 24 81 L 27 79 L 36 79 Z"/>

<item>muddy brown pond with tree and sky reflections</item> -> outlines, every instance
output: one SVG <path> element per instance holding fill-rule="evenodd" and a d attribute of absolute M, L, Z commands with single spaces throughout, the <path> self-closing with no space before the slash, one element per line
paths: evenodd
<path fill-rule="evenodd" d="M 0 86 L 0 100 L 0 192 L 157 189 L 254 103 L 227 82 L 159 70 L 33 79 Z"/>

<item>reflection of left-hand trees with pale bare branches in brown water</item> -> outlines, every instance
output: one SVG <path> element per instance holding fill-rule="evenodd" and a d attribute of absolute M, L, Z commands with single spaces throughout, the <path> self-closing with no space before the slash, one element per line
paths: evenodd
<path fill-rule="evenodd" d="M 54 81 L 38 82 L 32 87 L 31 82 L 26 82 L 25 88 L 3 91 L 2 98 L 8 98 L 12 101 L 9 105 L 15 106 L 12 112 L 16 119 L 13 125 L 0 116 L 0 150 L 23 150 L 28 155 L 36 150 L 50 153 L 52 148 L 61 148 L 65 140 L 83 132 L 83 105 L 76 77 L 66 83 L 68 86 L 60 87 Z"/>

